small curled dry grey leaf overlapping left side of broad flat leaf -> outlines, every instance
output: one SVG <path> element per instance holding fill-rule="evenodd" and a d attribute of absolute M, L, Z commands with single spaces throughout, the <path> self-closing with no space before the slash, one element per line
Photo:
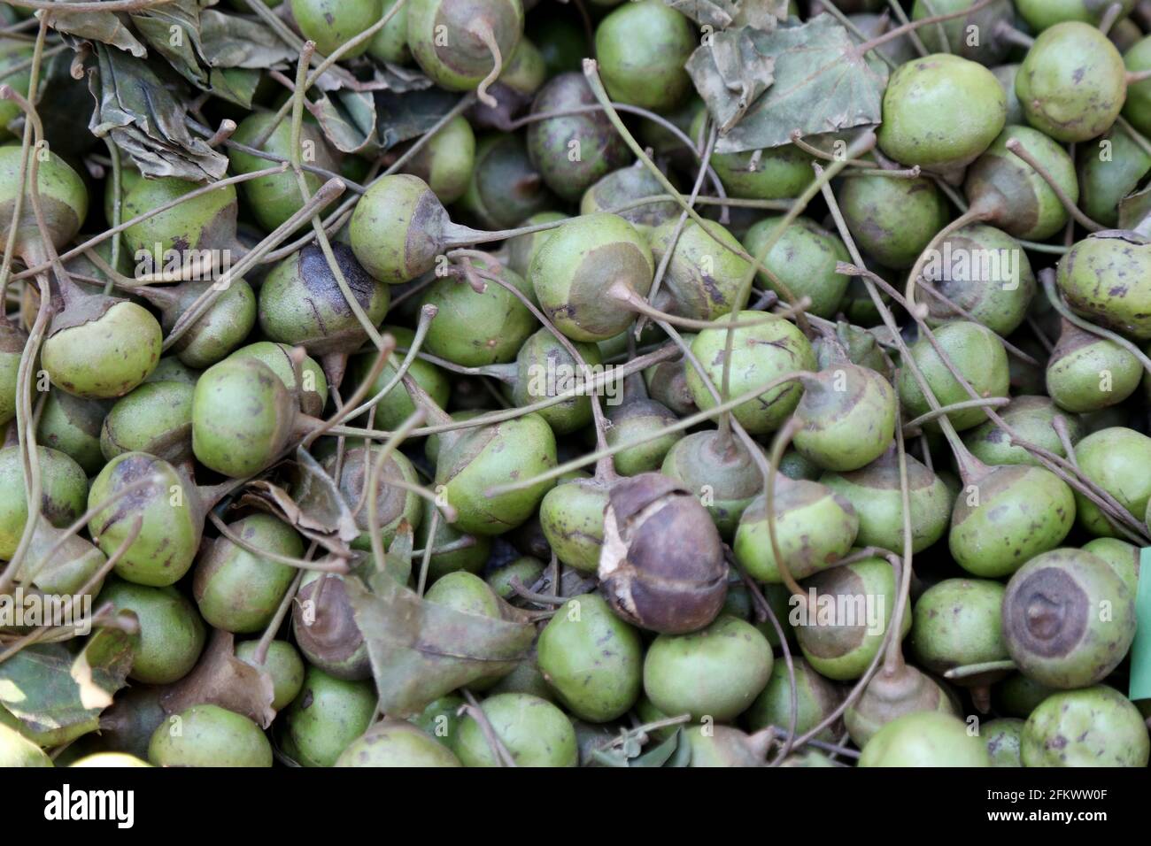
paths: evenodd
<path fill-rule="evenodd" d="M 719 135 L 726 135 L 744 117 L 773 81 L 776 60 L 760 53 L 750 26 L 716 32 L 710 46 L 700 47 L 687 61 L 700 96 L 711 106 Z"/>

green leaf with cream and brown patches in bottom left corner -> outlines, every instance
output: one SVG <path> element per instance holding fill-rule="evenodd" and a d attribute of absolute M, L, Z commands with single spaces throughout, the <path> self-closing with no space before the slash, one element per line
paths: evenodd
<path fill-rule="evenodd" d="M 0 704 L 32 733 L 79 737 L 99 726 L 134 654 L 120 628 L 96 630 L 76 656 L 63 643 L 30 646 L 0 664 Z"/>

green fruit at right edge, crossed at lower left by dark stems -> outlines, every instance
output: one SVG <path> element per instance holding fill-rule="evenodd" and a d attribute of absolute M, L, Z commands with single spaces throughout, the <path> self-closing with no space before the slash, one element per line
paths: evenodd
<path fill-rule="evenodd" d="M 1151 500 L 1151 478 L 1143 468 L 1151 463 L 1151 437 L 1122 426 L 1093 432 L 1075 447 L 1075 460 L 1083 474 L 1111 494 L 1133 515 L 1142 518 Z M 1075 491 L 1078 525 L 1097 538 L 1114 538 L 1099 506 Z"/>

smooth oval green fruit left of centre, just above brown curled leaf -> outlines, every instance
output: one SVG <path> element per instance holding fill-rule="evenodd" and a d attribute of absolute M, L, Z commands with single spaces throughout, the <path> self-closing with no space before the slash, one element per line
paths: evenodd
<path fill-rule="evenodd" d="M 280 376 L 254 358 L 229 358 L 205 371 L 192 395 L 192 451 L 205 466 L 241 478 L 283 450 L 297 416 Z"/>

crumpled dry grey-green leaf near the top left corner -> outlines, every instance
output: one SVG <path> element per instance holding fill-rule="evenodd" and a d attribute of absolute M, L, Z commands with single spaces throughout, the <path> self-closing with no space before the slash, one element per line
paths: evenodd
<path fill-rule="evenodd" d="M 228 157 L 216 152 L 184 125 L 186 109 L 155 71 L 140 59 L 96 45 L 98 68 L 89 76 L 96 109 L 92 134 L 127 152 L 142 174 L 177 176 L 192 182 L 221 178 Z"/>

